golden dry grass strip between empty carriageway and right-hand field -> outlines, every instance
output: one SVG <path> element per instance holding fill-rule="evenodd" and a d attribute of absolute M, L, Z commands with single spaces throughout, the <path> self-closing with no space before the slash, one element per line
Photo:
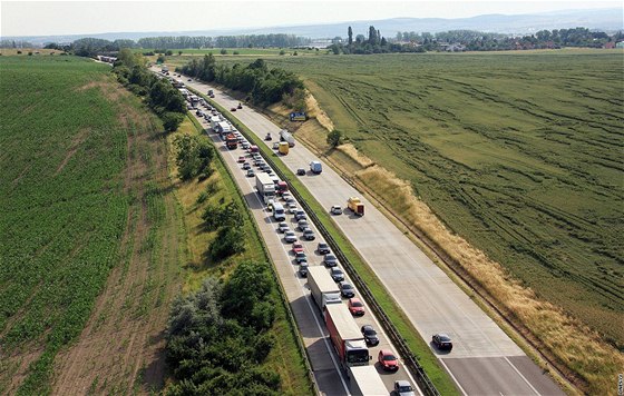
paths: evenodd
<path fill-rule="evenodd" d="M 605 395 L 613 392 L 615 378 L 624 367 L 624 356 L 603 343 L 597 333 L 555 305 L 540 300 L 532 289 L 511 279 L 498 263 L 450 232 L 431 209 L 415 197 L 408 182 L 379 166 L 359 171 L 357 177 L 373 191 L 392 191 L 392 195 L 379 198 L 402 214 L 409 225 L 418 227 L 435 245 L 442 247 L 503 306 L 513 321 L 519 320 L 552 355 L 586 382 L 587 385 L 577 384 L 585 392 Z"/>

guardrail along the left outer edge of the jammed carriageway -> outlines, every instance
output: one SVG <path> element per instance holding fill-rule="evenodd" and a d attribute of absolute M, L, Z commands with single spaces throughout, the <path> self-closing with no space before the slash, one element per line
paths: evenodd
<path fill-rule="evenodd" d="M 202 131 L 204 131 L 204 127 L 202 127 L 202 125 L 197 121 L 197 119 L 193 116 L 193 115 L 188 115 L 188 117 L 191 118 L 191 121 L 193 122 L 193 125 L 195 125 L 196 128 L 199 128 Z M 223 159 L 223 155 L 221 154 L 220 150 L 215 150 L 217 151 L 217 158 L 218 161 L 221 162 L 221 165 L 223 166 L 223 168 L 225 168 L 225 171 L 227 172 L 227 175 L 230 176 L 230 178 L 232 179 L 232 181 L 234 181 L 234 175 L 232 175 L 232 171 L 230 170 L 230 168 L 227 167 L 227 165 L 225 164 L 225 160 Z M 243 205 L 245 205 L 245 207 L 247 208 L 246 212 L 251 214 L 251 207 L 247 202 L 247 200 L 244 198 L 244 194 L 241 190 L 241 187 L 238 187 L 238 184 L 236 184 L 236 181 L 233 182 L 234 187 L 236 188 L 236 191 L 238 192 L 238 195 L 241 196 L 241 200 L 243 201 Z M 271 267 L 273 268 L 273 270 L 271 271 L 271 274 L 273 275 L 273 279 L 275 280 L 275 283 L 277 284 L 277 287 L 280 288 L 280 295 L 281 295 L 281 300 L 282 300 L 282 305 L 284 306 L 284 309 L 286 310 L 286 317 L 287 320 L 290 323 L 290 328 L 291 331 L 294 336 L 294 338 L 296 339 L 296 344 L 298 347 L 300 349 L 300 353 L 302 353 L 302 357 L 303 358 L 303 365 L 305 366 L 305 370 L 308 372 L 308 378 L 310 379 L 310 383 L 312 384 L 312 389 L 314 390 L 314 394 L 316 395 L 321 395 L 321 390 L 319 389 L 319 385 L 316 384 L 316 380 L 314 378 L 314 372 L 312 370 L 312 366 L 310 365 L 310 356 L 308 355 L 308 349 L 305 349 L 305 346 L 303 345 L 303 340 L 301 339 L 301 334 L 299 334 L 299 331 L 295 330 L 296 328 L 296 321 L 294 318 L 294 314 L 292 313 L 291 306 L 287 303 L 287 296 L 286 296 L 286 290 L 284 289 L 284 285 L 282 285 L 282 280 L 280 279 L 280 276 L 277 275 L 277 269 L 275 267 L 275 263 L 273 263 L 273 260 L 271 259 L 271 255 L 269 253 L 269 248 L 266 247 L 266 244 L 264 242 L 264 238 L 261 237 L 261 231 L 260 228 L 257 227 L 257 224 L 254 221 L 253 218 L 250 218 L 252 227 L 254 228 L 256 235 L 259 236 L 260 239 L 260 245 L 262 246 L 262 250 L 264 251 L 264 256 L 266 256 L 266 259 L 269 260 L 269 263 L 271 264 Z"/>

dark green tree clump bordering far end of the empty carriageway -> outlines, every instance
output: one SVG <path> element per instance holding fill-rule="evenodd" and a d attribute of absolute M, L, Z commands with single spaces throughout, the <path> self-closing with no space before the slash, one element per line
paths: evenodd
<path fill-rule="evenodd" d="M 248 93 L 247 99 L 256 105 L 266 106 L 285 100 L 295 110 L 305 109 L 304 86 L 299 77 L 284 69 L 269 69 L 262 59 L 245 67 L 240 63 L 228 67 L 216 65 L 215 58 L 209 53 L 202 60 L 193 59 L 182 68 L 176 68 L 176 71 Z"/>

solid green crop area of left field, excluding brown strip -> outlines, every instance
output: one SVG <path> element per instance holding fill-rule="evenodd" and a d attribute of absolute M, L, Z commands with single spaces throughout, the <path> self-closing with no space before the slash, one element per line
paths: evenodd
<path fill-rule="evenodd" d="M 28 393 L 80 334 L 117 258 L 126 130 L 116 105 L 85 89 L 108 66 L 2 57 L 0 68 L 0 356 L 41 353 Z"/>

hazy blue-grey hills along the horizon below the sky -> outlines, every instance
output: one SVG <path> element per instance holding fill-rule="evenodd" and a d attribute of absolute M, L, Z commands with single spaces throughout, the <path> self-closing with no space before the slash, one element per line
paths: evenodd
<path fill-rule="evenodd" d="M 431 32 L 448 30 L 479 30 L 486 32 L 530 34 L 543 29 L 588 28 L 607 32 L 624 29 L 623 9 L 567 10 L 534 14 L 485 14 L 472 18 L 393 18 L 382 20 L 363 20 L 328 24 L 287 26 L 261 29 L 235 30 L 202 30 L 202 31 L 152 31 L 152 32 L 116 32 L 98 34 L 67 34 L 67 36 L 30 36 L 2 37 L 3 40 L 25 40 L 35 44 L 46 42 L 70 42 L 82 37 L 94 37 L 106 40 L 131 39 L 156 36 L 233 36 L 233 34 L 269 34 L 286 33 L 312 39 L 347 37 L 347 29 L 351 27 L 354 34 L 368 34 L 369 26 L 373 24 L 381 34 L 388 38 L 397 36 L 398 31 Z"/>

